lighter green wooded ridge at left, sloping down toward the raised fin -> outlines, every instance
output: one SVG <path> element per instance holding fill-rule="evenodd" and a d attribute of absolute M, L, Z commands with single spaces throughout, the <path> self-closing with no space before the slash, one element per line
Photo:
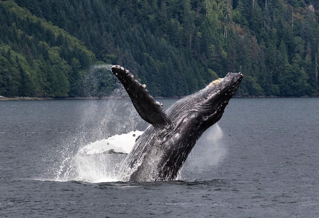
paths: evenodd
<path fill-rule="evenodd" d="M 0 1 L 0 20 L 0 95 L 65 97 L 112 90 L 111 75 L 87 89 L 92 80 L 87 69 L 99 62 L 66 31 L 12 1 Z"/>

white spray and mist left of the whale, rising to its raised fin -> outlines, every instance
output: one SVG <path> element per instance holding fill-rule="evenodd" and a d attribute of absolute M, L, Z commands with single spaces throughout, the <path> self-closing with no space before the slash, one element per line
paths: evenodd
<path fill-rule="evenodd" d="M 101 76 L 101 78 L 99 78 Z M 99 84 L 100 79 L 112 77 L 110 65 L 91 67 L 86 75 L 85 86 Z M 117 82 L 116 80 L 116 83 Z M 143 120 L 133 107 L 128 94 L 119 84 L 114 84 L 110 95 L 104 100 L 86 100 L 78 107 L 81 116 L 74 121 L 75 133 L 57 142 L 57 149 L 49 153 L 53 166 L 48 167 L 47 175 L 41 180 L 111 182 L 117 181 L 117 166 L 125 158 L 124 154 L 79 154 L 79 149 L 97 140 L 111 135 L 122 134 L 143 126 Z M 86 96 L 97 96 L 101 92 L 98 86 L 87 87 Z"/>

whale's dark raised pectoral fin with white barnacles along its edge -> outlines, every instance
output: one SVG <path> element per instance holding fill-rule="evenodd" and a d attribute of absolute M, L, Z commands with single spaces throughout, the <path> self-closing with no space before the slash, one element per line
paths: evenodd
<path fill-rule="evenodd" d="M 143 120 L 152 124 L 155 130 L 171 126 L 172 121 L 164 112 L 163 105 L 154 100 L 149 91 L 145 89 L 146 85 L 134 79 L 134 75 L 124 67 L 112 66 L 112 73 L 124 86 L 137 113 Z"/>

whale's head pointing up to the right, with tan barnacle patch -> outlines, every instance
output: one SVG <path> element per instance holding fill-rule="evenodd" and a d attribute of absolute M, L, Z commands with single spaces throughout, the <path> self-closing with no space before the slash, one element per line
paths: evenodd
<path fill-rule="evenodd" d="M 192 123 L 193 129 L 207 129 L 222 117 L 242 78 L 241 73 L 228 73 L 203 90 L 177 101 L 167 110 L 167 115 L 175 124 Z"/>

